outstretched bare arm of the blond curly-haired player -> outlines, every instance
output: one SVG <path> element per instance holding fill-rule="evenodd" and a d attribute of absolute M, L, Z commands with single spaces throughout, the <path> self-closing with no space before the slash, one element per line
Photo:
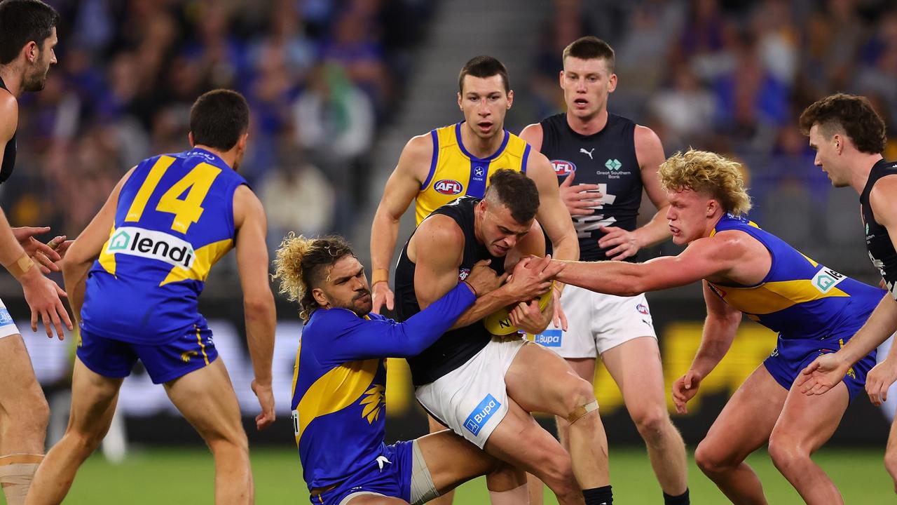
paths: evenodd
<path fill-rule="evenodd" d="M 744 253 L 740 237 L 716 235 L 698 239 L 678 256 L 662 256 L 643 263 L 625 261 L 563 261 L 557 279 L 567 284 L 618 297 L 678 288 L 710 276 L 725 274 Z"/>

